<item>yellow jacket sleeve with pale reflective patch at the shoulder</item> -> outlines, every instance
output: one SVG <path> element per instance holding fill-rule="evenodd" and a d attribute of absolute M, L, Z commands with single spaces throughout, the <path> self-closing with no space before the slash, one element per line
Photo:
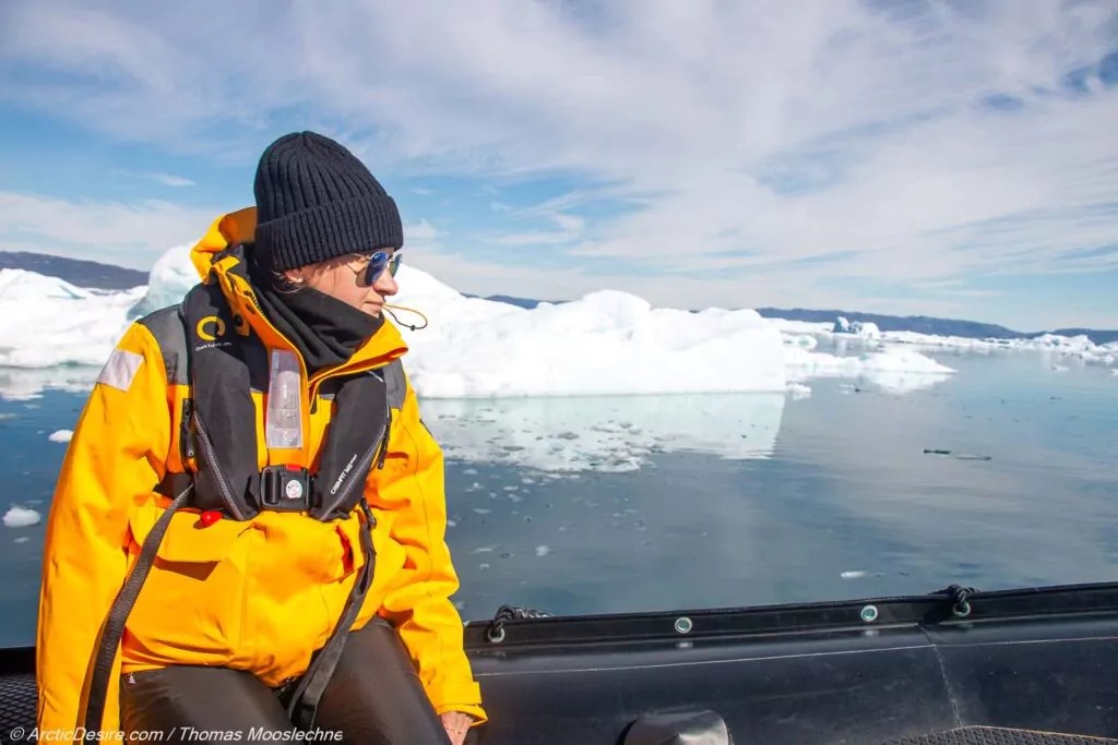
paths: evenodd
<path fill-rule="evenodd" d="M 75 426 L 47 518 L 36 640 L 40 739 L 69 743 L 84 724 L 92 660 L 129 571 L 129 514 L 159 481 L 169 441 L 162 355 L 148 328 L 133 324 Z M 117 650 L 106 732 L 120 726 L 120 665 Z"/>

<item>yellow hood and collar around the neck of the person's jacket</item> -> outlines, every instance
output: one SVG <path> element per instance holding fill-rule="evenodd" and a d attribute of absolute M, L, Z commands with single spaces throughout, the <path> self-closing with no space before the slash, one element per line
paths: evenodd
<path fill-rule="evenodd" d="M 252 243 L 256 235 L 256 208 L 246 207 L 221 214 L 210 223 L 206 235 L 190 249 L 190 261 L 202 283 L 215 277 L 234 313 L 247 324 L 265 344 L 287 348 L 295 346 L 264 316 L 256 293 L 247 279 L 244 252 L 235 247 Z M 235 249 L 235 250 L 229 250 Z M 240 323 L 239 321 L 237 322 Z M 358 370 L 388 364 L 407 352 L 407 344 L 390 318 L 373 336 L 362 344 L 343 370 Z"/>

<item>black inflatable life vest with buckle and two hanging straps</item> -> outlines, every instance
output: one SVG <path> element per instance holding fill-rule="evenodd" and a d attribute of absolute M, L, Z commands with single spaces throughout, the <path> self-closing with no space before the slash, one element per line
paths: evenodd
<path fill-rule="evenodd" d="M 363 485 L 373 461 L 382 467 L 387 455 L 391 407 L 385 374 L 382 370 L 369 370 L 331 379 L 339 383 L 337 413 L 331 418 L 313 475 L 300 466 L 267 466 L 262 470 L 256 459 L 256 404 L 252 391 L 267 385 L 268 449 L 303 447 L 297 359 L 286 350 L 269 353 L 249 333 L 244 319 L 234 317 L 214 273 L 187 293 L 178 315 L 186 334 L 186 369 L 191 384 L 180 445 L 183 462 L 193 461 L 196 470 L 169 472 L 157 488 L 174 498 L 144 539 L 135 566 L 110 610 L 94 661 L 86 732 L 101 730 L 108 680 L 127 615 L 176 510 L 197 509 L 203 523 L 218 516 L 249 520 L 263 510 L 300 512 L 309 519 L 330 522 L 349 518 L 360 508 L 357 519 L 361 519 L 364 565 L 325 646 L 313 656 L 297 685 L 283 694 L 292 720 L 310 728 L 347 632 L 372 583 L 371 529 L 376 519 L 364 500 Z M 215 334 L 215 328 L 233 328 L 236 333 Z M 259 378 L 259 371 L 267 371 L 266 383 L 254 380 Z M 295 397 L 294 401 L 291 397 Z"/>

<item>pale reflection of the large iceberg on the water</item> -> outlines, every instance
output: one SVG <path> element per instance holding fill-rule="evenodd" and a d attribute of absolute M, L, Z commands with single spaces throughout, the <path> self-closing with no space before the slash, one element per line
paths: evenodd
<path fill-rule="evenodd" d="M 636 470 L 654 452 L 771 456 L 780 393 L 425 399 L 448 458 L 544 471 Z"/>

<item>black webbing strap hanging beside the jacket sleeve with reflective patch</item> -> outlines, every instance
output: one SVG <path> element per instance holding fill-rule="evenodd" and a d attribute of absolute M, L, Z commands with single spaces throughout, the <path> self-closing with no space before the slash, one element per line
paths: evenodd
<path fill-rule="evenodd" d="M 116 659 L 116 649 L 120 647 L 121 638 L 124 636 L 124 624 L 129 619 L 129 613 L 132 612 L 132 606 L 135 605 L 144 580 L 151 573 L 152 564 L 155 562 L 155 552 L 159 551 L 160 544 L 163 543 L 163 535 L 167 533 L 168 525 L 171 524 L 171 516 L 174 514 L 174 510 L 187 504 L 187 497 L 192 489 L 192 485 L 187 486 L 163 512 L 154 527 L 151 528 L 151 533 L 144 538 L 143 547 L 140 550 L 140 557 L 136 560 L 135 566 L 132 567 L 131 574 L 129 574 L 124 586 L 121 588 L 108 611 L 108 620 L 105 622 L 101 644 L 97 648 L 93 668 L 93 680 L 89 685 L 89 699 L 85 709 L 86 733 L 101 732 L 105 714 L 108 680 L 113 675 L 113 661 Z"/>

